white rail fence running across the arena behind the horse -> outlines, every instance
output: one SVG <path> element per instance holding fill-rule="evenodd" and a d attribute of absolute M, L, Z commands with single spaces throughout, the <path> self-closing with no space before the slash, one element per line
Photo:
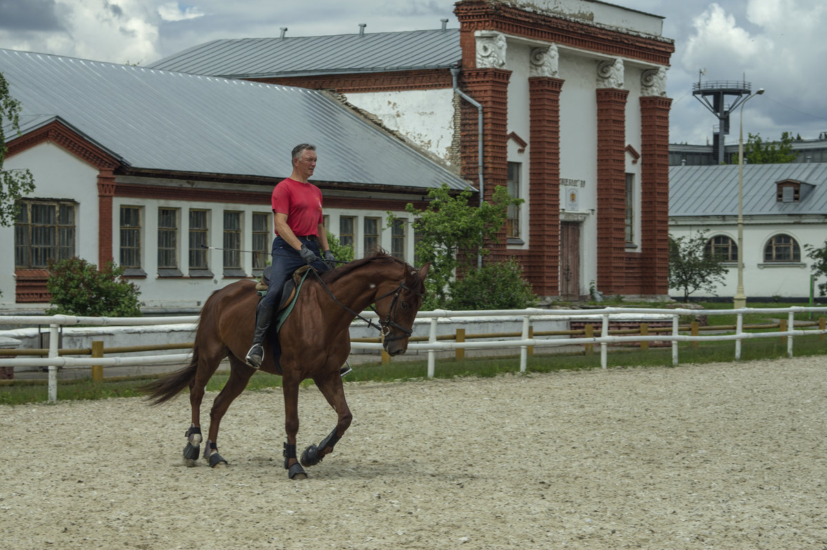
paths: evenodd
<path fill-rule="evenodd" d="M 430 319 L 430 330 L 428 342 L 410 342 L 409 350 L 428 352 L 428 377 L 433 377 L 437 352 L 452 351 L 457 349 L 485 349 L 485 348 L 509 348 L 519 347 L 520 349 L 520 371 L 526 370 L 528 359 L 528 347 L 547 346 L 571 346 L 572 344 L 600 344 L 600 366 L 607 366 L 607 352 L 609 344 L 622 342 L 672 342 L 672 364 L 678 364 L 678 342 L 715 342 L 734 341 L 734 359 L 741 358 L 741 342 L 753 338 L 786 337 L 787 355 L 792 356 L 793 337 L 825 334 L 827 329 L 794 329 L 793 316 L 795 313 L 827 313 L 827 307 L 791 307 L 791 308 L 742 308 L 742 309 L 665 309 L 665 308 L 601 308 L 601 309 L 508 309 L 508 310 L 485 310 L 485 311 L 446 311 L 437 309 L 434 311 L 419 312 L 418 319 Z M 743 315 L 746 313 L 765 313 L 774 318 L 787 317 L 788 330 L 784 332 L 743 332 Z M 680 334 L 678 322 L 681 315 L 696 316 L 703 315 L 737 315 L 735 332 L 715 334 L 709 336 L 691 336 Z M 366 318 L 376 318 L 375 313 L 363 313 Z M 660 333 L 653 336 L 642 336 L 639 334 L 629 336 L 609 336 L 609 322 L 612 318 L 629 315 L 659 315 L 672 318 L 672 333 Z M 599 337 L 544 337 L 529 338 L 529 327 L 533 318 L 559 316 L 560 318 L 578 317 L 599 317 L 601 319 L 601 331 Z M 499 341 L 483 342 L 437 342 L 437 321 L 440 318 L 518 318 L 522 320 L 522 335 L 516 339 L 502 339 Z M 135 365 L 163 365 L 169 363 L 184 363 L 189 361 L 190 353 L 179 353 L 157 356 L 116 356 L 103 358 L 90 357 L 65 357 L 58 355 L 58 332 L 61 326 L 93 325 L 93 326 L 147 326 L 157 324 L 193 324 L 198 321 L 197 316 L 186 317 L 133 317 L 133 318 L 112 318 L 112 317 L 74 317 L 69 315 L 54 315 L 51 317 L 41 316 L 0 316 L 0 325 L 49 325 L 49 355 L 39 358 L 18 357 L 13 359 L 0 359 L 0 366 L 47 366 L 49 368 L 49 400 L 57 399 L 57 371 L 61 366 L 135 366 Z M 351 342 L 353 349 L 381 350 L 381 343 L 374 342 Z M 2 352 L 0 352 L 2 353 Z"/>

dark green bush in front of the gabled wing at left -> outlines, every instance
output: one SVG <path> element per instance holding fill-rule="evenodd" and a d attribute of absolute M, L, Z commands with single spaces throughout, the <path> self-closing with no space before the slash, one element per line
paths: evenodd
<path fill-rule="evenodd" d="M 46 288 L 52 295 L 48 315 L 84 317 L 138 317 L 141 291 L 122 278 L 123 268 L 109 261 L 103 270 L 74 257 L 49 262 Z"/>

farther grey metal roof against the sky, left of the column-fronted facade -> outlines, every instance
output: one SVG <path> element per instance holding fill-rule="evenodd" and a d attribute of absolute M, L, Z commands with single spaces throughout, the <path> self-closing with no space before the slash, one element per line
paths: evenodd
<path fill-rule="evenodd" d="M 207 42 L 155 61 L 153 69 L 225 78 L 440 69 L 462 58 L 459 29 L 241 38 Z"/>

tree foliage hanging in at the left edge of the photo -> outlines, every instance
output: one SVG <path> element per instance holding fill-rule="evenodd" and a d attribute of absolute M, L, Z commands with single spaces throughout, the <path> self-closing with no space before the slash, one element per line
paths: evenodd
<path fill-rule="evenodd" d="M 27 169 L 3 170 L 8 147 L 6 133 L 8 130 L 20 134 L 20 112 L 22 106 L 12 98 L 8 83 L 0 73 L 0 226 L 8 227 L 17 219 L 20 210 L 18 201 L 35 189 L 35 179 Z"/>

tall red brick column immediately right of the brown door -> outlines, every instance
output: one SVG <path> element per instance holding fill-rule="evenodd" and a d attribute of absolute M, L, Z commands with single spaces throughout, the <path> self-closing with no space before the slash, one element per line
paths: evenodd
<path fill-rule="evenodd" d="M 624 293 L 626 98 L 629 90 L 597 90 L 597 273 L 600 290 Z"/>

